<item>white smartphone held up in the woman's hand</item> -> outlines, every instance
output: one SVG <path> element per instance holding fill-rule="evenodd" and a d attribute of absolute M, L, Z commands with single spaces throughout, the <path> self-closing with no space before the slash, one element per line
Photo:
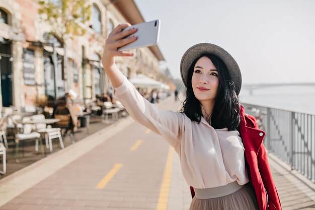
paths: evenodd
<path fill-rule="evenodd" d="M 156 44 L 159 41 L 160 25 L 161 21 L 155 20 L 150 22 L 139 23 L 125 28 L 124 30 L 128 30 L 130 28 L 137 28 L 138 30 L 134 34 L 129 35 L 137 36 L 137 40 L 135 40 L 132 43 L 126 44 L 122 47 L 119 47 L 118 50 L 126 51 L 139 47 L 148 47 Z"/>

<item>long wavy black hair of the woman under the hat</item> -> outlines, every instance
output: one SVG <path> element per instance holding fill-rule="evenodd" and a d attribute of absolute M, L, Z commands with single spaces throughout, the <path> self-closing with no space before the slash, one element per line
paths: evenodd
<path fill-rule="evenodd" d="M 219 57 L 212 54 L 202 54 L 197 57 L 189 67 L 186 81 L 186 99 L 183 102 L 182 112 L 192 121 L 200 123 L 202 117 L 201 104 L 193 92 L 191 79 L 194 73 L 195 64 L 204 56 L 208 57 L 215 65 L 219 77 L 219 86 L 215 97 L 210 124 L 215 129 L 227 127 L 228 130 L 237 130 L 240 124 L 239 97 L 235 92 L 234 83 L 230 80 L 224 62 Z"/>

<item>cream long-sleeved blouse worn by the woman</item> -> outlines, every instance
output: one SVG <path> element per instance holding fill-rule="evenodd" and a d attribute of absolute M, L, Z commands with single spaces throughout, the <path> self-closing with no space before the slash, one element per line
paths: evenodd
<path fill-rule="evenodd" d="M 134 120 L 174 147 L 189 186 L 211 188 L 249 182 L 239 131 L 214 129 L 204 118 L 198 124 L 184 113 L 162 110 L 144 99 L 125 77 L 115 90 Z"/>

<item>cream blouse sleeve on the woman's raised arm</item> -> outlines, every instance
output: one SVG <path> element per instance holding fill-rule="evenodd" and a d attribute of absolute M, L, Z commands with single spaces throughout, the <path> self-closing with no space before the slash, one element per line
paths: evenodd
<path fill-rule="evenodd" d="M 162 135 L 172 147 L 180 142 L 181 129 L 185 121 L 182 113 L 165 111 L 149 103 L 125 77 L 123 83 L 115 88 L 115 91 L 118 100 L 134 120 Z"/>

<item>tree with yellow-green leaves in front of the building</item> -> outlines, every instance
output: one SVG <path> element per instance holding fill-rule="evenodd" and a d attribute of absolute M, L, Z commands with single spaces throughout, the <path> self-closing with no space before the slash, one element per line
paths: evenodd
<path fill-rule="evenodd" d="M 37 0 L 37 2 L 40 6 L 38 11 L 40 19 L 51 26 L 50 34 L 57 35 L 63 41 L 64 76 L 67 78 L 66 43 L 74 35 L 82 36 L 85 34 L 88 27 L 86 23 L 91 17 L 91 4 L 87 0 Z"/>

